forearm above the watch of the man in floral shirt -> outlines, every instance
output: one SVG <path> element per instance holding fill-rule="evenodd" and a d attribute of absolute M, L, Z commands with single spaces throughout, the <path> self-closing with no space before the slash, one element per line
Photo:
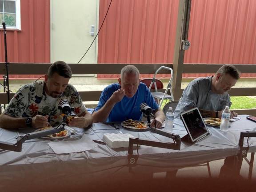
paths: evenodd
<path fill-rule="evenodd" d="M 0 116 L 0 127 L 6 129 L 25 128 L 27 127 L 26 118 L 16 118 L 2 113 Z"/>

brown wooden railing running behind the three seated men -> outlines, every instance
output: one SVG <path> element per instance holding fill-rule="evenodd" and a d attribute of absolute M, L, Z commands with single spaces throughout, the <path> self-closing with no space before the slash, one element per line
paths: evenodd
<path fill-rule="evenodd" d="M 42 63 L 9 63 L 10 75 L 31 75 L 45 74 L 51 64 Z M 73 74 L 120 74 L 121 68 L 127 64 L 70 64 Z M 141 74 L 154 74 L 160 66 L 172 68 L 172 64 L 134 64 Z M 220 64 L 183 64 L 183 73 L 215 73 Z M 242 73 L 256 73 L 255 64 L 235 64 Z M 0 63 L 0 73 L 5 74 L 5 63 Z M 168 70 L 161 70 L 159 74 L 169 73 Z M 176 72 L 174 72 L 174 75 Z M 160 90 L 164 91 L 164 89 Z M 180 89 L 182 92 L 183 89 Z M 100 98 L 101 91 L 79 92 L 83 101 L 95 101 Z M 230 96 L 256 96 L 256 88 L 232 88 Z M 14 93 L 10 94 L 10 98 Z M 180 95 L 179 95 L 180 96 Z M 178 98 L 175 98 L 178 100 Z M 0 93 L 0 104 L 8 104 L 7 94 Z M 256 115 L 256 109 L 237 110 L 238 112 Z"/>

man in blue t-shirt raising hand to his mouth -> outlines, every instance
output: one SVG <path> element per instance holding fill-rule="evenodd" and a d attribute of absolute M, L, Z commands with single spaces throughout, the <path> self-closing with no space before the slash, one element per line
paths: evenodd
<path fill-rule="evenodd" d="M 98 106 L 92 113 L 93 122 L 114 122 L 128 119 L 140 120 L 140 104 L 146 103 L 155 109 L 152 127 L 161 128 L 164 112 L 152 97 L 148 87 L 140 83 L 140 72 L 133 65 L 126 65 L 121 70 L 119 83 L 106 87 L 100 95 Z"/>

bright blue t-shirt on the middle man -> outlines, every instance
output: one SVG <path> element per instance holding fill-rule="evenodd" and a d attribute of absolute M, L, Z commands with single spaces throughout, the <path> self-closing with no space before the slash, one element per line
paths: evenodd
<path fill-rule="evenodd" d="M 100 95 L 100 100 L 98 106 L 95 108 L 95 111 L 98 111 L 100 108 L 102 108 L 107 100 L 112 96 L 113 92 L 120 88 L 120 84 L 118 83 L 111 84 L 104 88 Z M 158 104 L 144 83 L 140 83 L 137 92 L 132 98 L 124 96 L 120 102 L 114 105 L 106 122 L 124 121 L 128 119 L 140 120 L 142 117 L 140 112 L 141 103 L 146 103 L 149 107 L 156 110 L 158 109 Z"/>

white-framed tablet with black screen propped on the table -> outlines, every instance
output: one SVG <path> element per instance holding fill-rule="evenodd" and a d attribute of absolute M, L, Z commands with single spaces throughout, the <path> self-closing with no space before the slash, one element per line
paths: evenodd
<path fill-rule="evenodd" d="M 188 132 L 190 140 L 193 143 L 210 134 L 198 108 L 192 108 L 180 113 L 180 118 Z"/>

